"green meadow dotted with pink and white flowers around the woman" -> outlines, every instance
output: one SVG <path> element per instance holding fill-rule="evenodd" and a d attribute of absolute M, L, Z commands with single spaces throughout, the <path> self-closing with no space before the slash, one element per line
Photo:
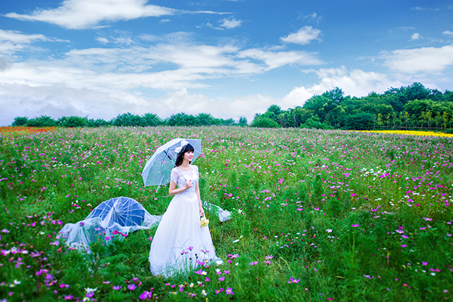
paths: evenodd
<path fill-rule="evenodd" d="M 60 243 L 65 223 L 144 187 L 152 153 L 202 139 L 202 199 L 224 264 L 149 272 L 156 228 Z M 0 134 L 0 301 L 452 301 L 453 140 L 249 127 L 55 129 Z M 190 250 L 190 249 L 189 249 Z"/>

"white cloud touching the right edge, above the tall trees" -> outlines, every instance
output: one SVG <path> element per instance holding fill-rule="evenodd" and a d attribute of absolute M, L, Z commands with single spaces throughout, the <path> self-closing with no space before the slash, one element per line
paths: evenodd
<path fill-rule="evenodd" d="M 403 73 L 440 72 L 453 64 L 453 45 L 394 50 L 382 58 L 390 69 Z"/>

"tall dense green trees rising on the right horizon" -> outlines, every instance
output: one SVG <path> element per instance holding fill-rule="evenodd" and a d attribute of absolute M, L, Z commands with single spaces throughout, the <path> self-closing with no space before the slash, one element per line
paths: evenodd
<path fill-rule="evenodd" d="M 282 110 L 271 105 L 256 114 L 252 127 L 316 129 L 449 129 L 453 128 L 453 92 L 421 83 L 389 88 L 384 93 L 351 97 L 336 87 L 314 95 L 302 106 Z"/>

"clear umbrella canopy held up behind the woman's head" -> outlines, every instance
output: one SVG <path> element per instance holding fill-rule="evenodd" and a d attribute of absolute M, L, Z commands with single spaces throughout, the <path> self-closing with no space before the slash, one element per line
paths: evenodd
<path fill-rule="evenodd" d="M 201 154 L 201 139 L 172 139 L 160 146 L 144 165 L 142 178 L 144 185 L 165 185 L 170 182 L 171 169 L 175 168 L 178 149 L 188 141 L 195 150 L 192 163 Z"/>

